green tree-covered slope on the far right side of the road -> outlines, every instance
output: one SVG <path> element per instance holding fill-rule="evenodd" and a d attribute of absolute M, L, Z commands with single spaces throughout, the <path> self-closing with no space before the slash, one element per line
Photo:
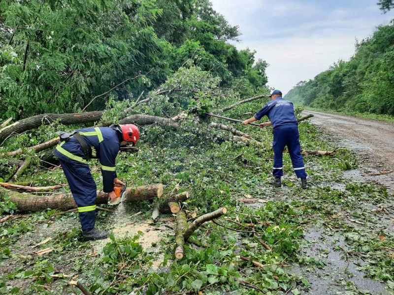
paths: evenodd
<path fill-rule="evenodd" d="M 394 24 L 381 26 L 356 45 L 350 61 L 299 82 L 286 98 L 314 108 L 394 115 L 393 45 Z"/>

